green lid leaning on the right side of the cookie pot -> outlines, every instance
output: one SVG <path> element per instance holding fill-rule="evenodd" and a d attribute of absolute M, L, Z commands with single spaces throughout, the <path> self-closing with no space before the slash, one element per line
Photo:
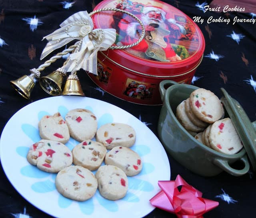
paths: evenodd
<path fill-rule="evenodd" d="M 221 88 L 224 96 L 220 99 L 224 104 L 236 131 L 244 144 L 252 168 L 256 171 L 256 121 L 251 122 L 242 106 Z"/>

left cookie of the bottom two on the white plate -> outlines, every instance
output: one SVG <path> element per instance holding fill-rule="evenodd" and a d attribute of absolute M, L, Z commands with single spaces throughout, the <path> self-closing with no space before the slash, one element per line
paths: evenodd
<path fill-rule="evenodd" d="M 64 197 L 85 201 L 94 196 L 98 181 L 90 170 L 82 166 L 68 166 L 58 172 L 55 185 Z"/>

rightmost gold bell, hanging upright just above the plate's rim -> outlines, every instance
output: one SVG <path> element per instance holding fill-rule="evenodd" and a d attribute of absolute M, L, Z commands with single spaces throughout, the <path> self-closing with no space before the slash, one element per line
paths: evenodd
<path fill-rule="evenodd" d="M 68 76 L 62 95 L 85 96 L 76 74 L 70 74 Z"/>

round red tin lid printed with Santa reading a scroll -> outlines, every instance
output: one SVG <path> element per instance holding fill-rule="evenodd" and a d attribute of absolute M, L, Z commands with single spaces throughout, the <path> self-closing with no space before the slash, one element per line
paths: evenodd
<path fill-rule="evenodd" d="M 138 17 L 145 26 L 142 42 L 125 50 L 112 50 L 118 61 L 121 58 L 156 68 L 196 65 L 204 53 L 205 42 L 200 28 L 186 14 L 160 0 L 103 0 L 94 10 L 118 8 Z M 115 28 L 117 46 L 136 42 L 140 37 L 138 22 L 122 12 L 100 12 L 92 16 L 94 28 Z M 114 54 L 113 54 L 114 56 Z M 126 63 L 122 65 L 125 66 Z M 179 69 L 180 70 L 180 69 Z"/>

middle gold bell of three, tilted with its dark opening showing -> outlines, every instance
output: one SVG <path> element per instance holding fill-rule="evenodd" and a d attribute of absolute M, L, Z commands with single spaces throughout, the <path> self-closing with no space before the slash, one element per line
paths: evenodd
<path fill-rule="evenodd" d="M 66 71 L 58 68 L 47 76 L 40 77 L 39 84 L 48 94 L 58 96 L 61 94 L 61 86 L 65 75 Z"/>

